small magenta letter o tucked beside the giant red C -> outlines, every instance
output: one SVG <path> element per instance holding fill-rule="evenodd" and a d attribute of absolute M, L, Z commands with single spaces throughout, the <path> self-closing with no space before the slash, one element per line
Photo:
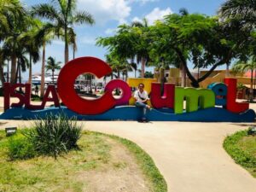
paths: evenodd
<path fill-rule="evenodd" d="M 113 92 L 113 90 L 119 88 L 122 90 L 122 96 L 119 99 L 115 99 L 115 105 L 127 105 L 129 104 L 129 100 L 131 98 L 131 89 L 128 84 L 126 84 L 125 81 L 121 79 L 114 79 L 110 82 L 105 87 L 105 92 L 108 91 L 110 93 Z"/>

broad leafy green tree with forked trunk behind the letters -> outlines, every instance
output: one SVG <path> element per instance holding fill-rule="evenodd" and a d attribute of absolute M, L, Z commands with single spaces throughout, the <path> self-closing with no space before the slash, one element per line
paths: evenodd
<path fill-rule="evenodd" d="M 217 67 L 243 54 L 250 32 L 237 32 L 239 24 L 225 26 L 218 17 L 200 14 L 166 15 L 163 22 L 158 21 L 150 28 L 154 34 L 150 48 L 169 55 L 170 61 L 182 66 L 192 86 L 199 87 Z M 210 70 L 196 79 L 189 71 L 189 61 L 194 68 L 210 67 Z"/>

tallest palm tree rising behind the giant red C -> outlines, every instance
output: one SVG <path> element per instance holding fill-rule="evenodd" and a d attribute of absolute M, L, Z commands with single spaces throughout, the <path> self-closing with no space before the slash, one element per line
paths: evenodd
<path fill-rule="evenodd" d="M 64 32 L 65 63 L 68 61 L 68 32 L 75 24 L 94 24 L 92 15 L 76 10 L 76 0 L 52 0 L 52 4 L 42 3 L 32 7 L 32 15 L 51 20 Z"/>

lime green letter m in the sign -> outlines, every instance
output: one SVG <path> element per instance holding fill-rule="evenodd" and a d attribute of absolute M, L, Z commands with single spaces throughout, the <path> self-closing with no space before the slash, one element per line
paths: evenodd
<path fill-rule="evenodd" d="M 174 113 L 183 113 L 183 101 L 186 98 L 186 112 L 194 112 L 200 108 L 213 108 L 215 96 L 212 90 L 176 87 Z"/>

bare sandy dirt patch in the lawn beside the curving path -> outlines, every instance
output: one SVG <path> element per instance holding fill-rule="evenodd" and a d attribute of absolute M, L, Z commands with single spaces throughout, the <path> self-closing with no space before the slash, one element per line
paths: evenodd
<path fill-rule="evenodd" d="M 137 160 L 121 143 L 107 138 L 112 146 L 111 158 L 101 171 L 80 172 L 79 180 L 89 183 L 88 192 L 143 192 L 153 191 L 143 172 L 137 166 Z"/>

